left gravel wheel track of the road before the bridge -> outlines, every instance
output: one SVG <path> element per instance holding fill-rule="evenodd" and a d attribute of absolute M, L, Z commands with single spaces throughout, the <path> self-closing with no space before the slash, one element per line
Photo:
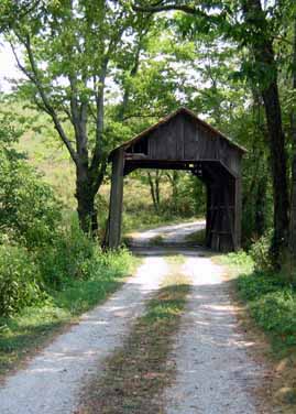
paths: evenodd
<path fill-rule="evenodd" d="M 29 366 L 0 388 L 1 414 L 73 413 L 94 370 L 122 344 L 151 292 L 167 273 L 162 258 L 146 258 L 134 277 L 103 305 L 85 314 Z"/>

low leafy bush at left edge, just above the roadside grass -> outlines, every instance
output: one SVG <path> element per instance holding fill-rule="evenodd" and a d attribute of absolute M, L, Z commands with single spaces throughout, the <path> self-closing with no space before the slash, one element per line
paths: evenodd
<path fill-rule="evenodd" d="M 44 297 L 39 268 L 28 251 L 0 246 L 0 315 L 11 315 Z"/>

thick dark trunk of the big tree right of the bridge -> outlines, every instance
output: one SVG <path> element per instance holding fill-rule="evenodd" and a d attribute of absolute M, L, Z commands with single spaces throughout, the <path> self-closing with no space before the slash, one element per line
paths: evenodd
<path fill-rule="evenodd" d="M 251 34 L 248 41 L 254 55 L 255 65 L 261 68 L 260 89 L 264 102 L 268 130 L 271 166 L 273 174 L 274 237 L 272 254 L 279 265 L 279 254 L 288 244 L 288 187 L 285 135 L 277 87 L 277 70 L 273 51 L 273 39 L 268 32 L 265 13 L 260 0 L 242 0 L 245 22 Z"/>

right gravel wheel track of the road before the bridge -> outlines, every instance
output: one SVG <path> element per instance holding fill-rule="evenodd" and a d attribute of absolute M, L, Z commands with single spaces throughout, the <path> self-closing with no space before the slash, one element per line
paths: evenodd
<path fill-rule="evenodd" d="M 238 331 L 222 269 L 197 257 L 187 259 L 184 272 L 193 291 L 172 353 L 177 377 L 166 391 L 165 412 L 259 413 L 252 394 L 264 370 L 250 358 L 252 344 Z"/>

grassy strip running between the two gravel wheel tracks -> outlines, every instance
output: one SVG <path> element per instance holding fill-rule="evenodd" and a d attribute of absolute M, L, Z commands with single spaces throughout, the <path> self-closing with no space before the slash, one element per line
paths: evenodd
<path fill-rule="evenodd" d="M 171 274 L 136 319 L 123 347 L 106 362 L 105 374 L 87 385 L 77 414 L 156 414 L 175 377 L 169 352 L 190 286 Z"/>

